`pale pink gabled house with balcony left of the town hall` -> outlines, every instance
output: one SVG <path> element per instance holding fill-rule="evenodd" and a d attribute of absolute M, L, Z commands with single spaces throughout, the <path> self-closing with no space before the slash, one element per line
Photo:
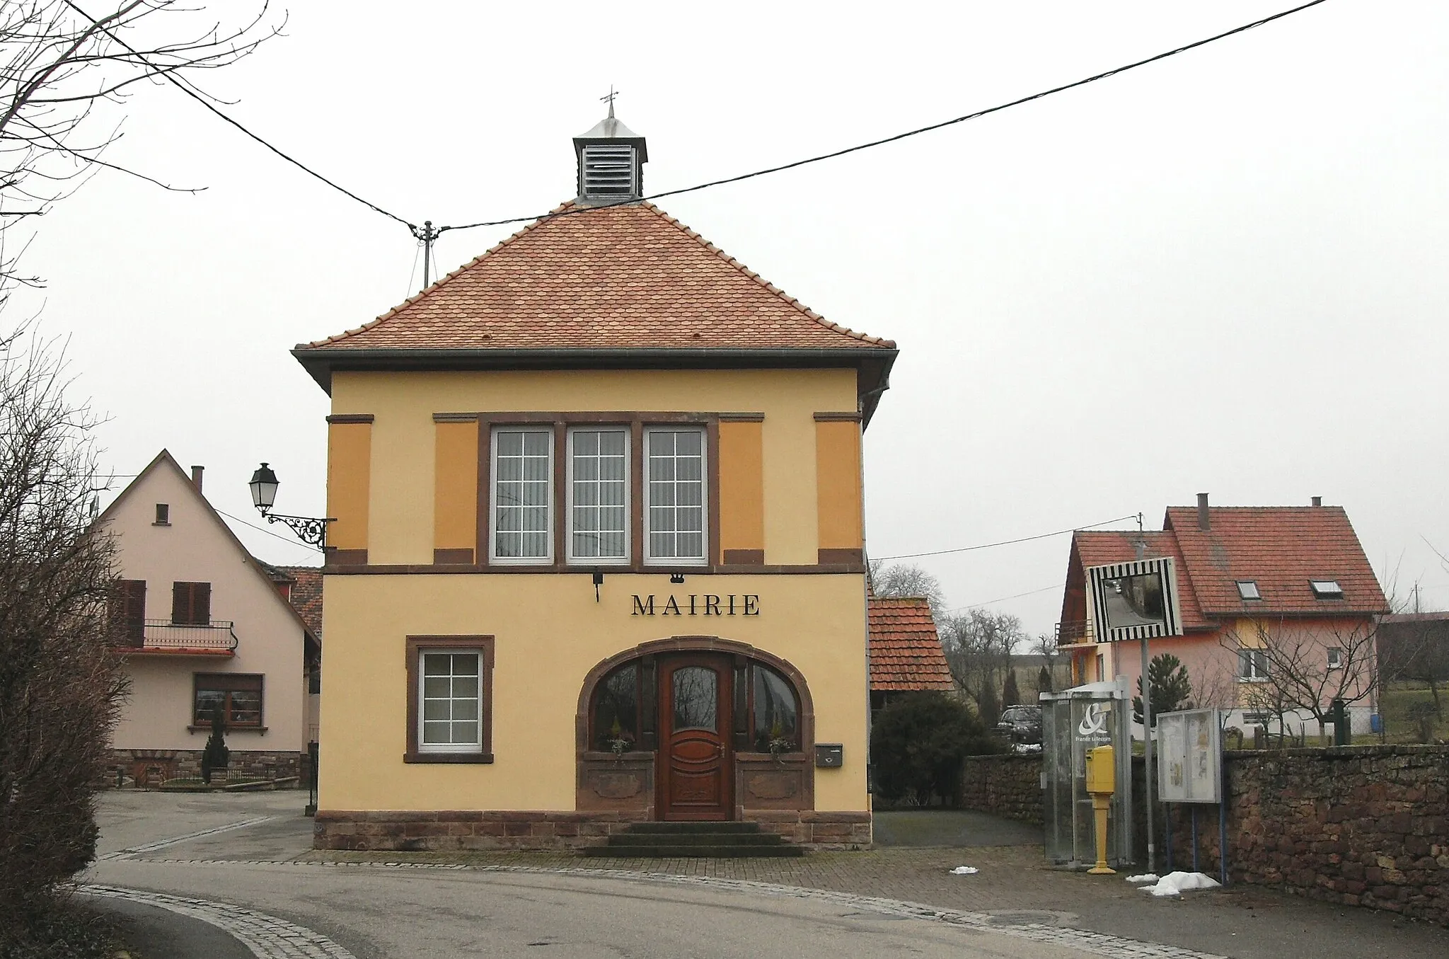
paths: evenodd
<path fill-rule="evenodd" d="M 297 776 L 314 729 L 309 674 L 320 640 L 274 577 L 161 453 L 96 520 L 116 546 L 114 642 L 129 700 L 112 734 L 117 774 L 138 785 L 199 774 L 212 716 L 225 717 L 230 774 Z"/>

